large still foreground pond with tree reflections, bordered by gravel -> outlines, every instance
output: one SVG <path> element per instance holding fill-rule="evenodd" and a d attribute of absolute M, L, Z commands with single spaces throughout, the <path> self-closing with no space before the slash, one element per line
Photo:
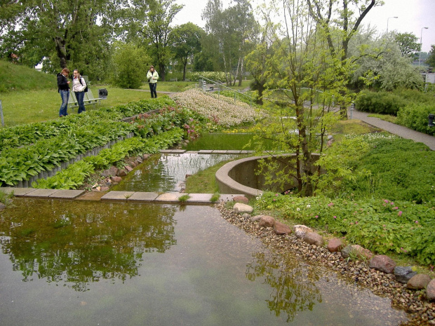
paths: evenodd
<path fill-rule="evenodd" d="M 399 325 L 333 274 L 276 259 L 208 206 L 15 198 L 1 325 Z"/>

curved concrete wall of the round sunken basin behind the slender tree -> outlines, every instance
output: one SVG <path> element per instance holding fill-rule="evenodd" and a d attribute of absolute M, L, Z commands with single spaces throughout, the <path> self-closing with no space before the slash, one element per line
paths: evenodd
<path fill-rule="evenodd" d="M 319 154 L 313 154 L 313 156 L 319 157 Z M 267 184 L 266 186 L 265 175 L 256 175 L 255 173 L 258 170 L 258 161 L 261 158 L 271 157 L 253 156 L 242 158 L 237 161 L 229 162 L 217 170 L 215 177 L 220 193 L 243 193 L 248 198 L 253 198 L 260 195 L 263 190 L 272 190 L 281 193 L 295 186 L 295 178 L 283 186 L 281 186 L 278 182 L 275 184 Z M 290 170 L 293 170 L 293 173 L 295 172 L 294 168 L 289 167 L 289 165 L 294 166 L 294 163 L 289 164 L 292 160 L 294 160 L 294 158 L 295 154 L 286 154 L 271 159 L 274 159 L 275 163 L 279 165 L 279 171 L 284 170 L 286 174 L 290 174 L 290 172 L 292 172 Z M 275 172 L 267 171 L 266 173 L 268 175 L 272 175 L 272 178 L 274 175 L 276 175 Z"/>

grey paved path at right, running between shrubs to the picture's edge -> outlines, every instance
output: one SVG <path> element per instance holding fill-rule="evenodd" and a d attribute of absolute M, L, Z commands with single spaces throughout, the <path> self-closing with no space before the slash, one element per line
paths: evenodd
<path fill-rule="evenodd" d="M 350 118 L 350 111 L 347 112 L 347 116 Z M 432 151 L 435 151 L 435 137 L 424 133 L 419 133 L 415 130 L 410 130 L 402 125 L 396 125 L 394 123 L 381 120 L 380 118 L 369 117 L 367 112 L 352 111 L 352 118 L 361 120 L 369 125 L 373 125 L 382 130 L 388 131 L 394 135 L 413 140 L 415 142 L 422 142 L 427 145 Z M 435 128 L 435 127 L 434 127 Z"/>

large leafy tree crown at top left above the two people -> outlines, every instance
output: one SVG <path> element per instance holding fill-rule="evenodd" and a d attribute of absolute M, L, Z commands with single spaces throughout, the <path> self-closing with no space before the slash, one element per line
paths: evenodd
<path fill-rule="evenodd" d="M 70 62 L 81 62 L 86 69 L 107 53 L 112 32 L 109 15 L 116 6 L 118 2 L 111 0 L 22 1 L 15 11 L 17 24 L 8 29 L 1 51 L 13 50 L 31 66 L 49 57 L 56 70 Z"/>

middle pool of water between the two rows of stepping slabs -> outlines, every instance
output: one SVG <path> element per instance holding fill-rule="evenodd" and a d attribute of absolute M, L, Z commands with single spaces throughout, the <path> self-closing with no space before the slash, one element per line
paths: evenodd
<path fill-rule="evenodd" d="M 180 191 L 186 175 L 239 157 L 234 154 L 156 154 L 114 186 L 116 191 Z"/>

